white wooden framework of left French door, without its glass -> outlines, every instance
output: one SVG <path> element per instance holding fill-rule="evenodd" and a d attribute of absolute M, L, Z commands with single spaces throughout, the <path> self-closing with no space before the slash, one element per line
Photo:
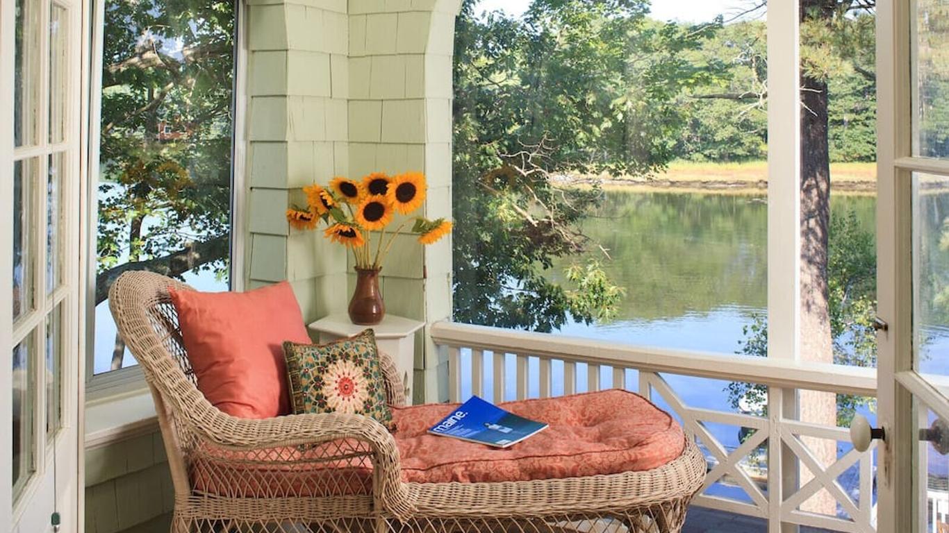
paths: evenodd
<path fill-rule="evenodd" d="M 39 102 L 46 102 L 48 97 L 48 33 L 49 33 L 49 6 L 52 2 L 41 0 L 30 5 L 42 10 L 39 17 L 37 31 L 43 43 L 34 50 L 39 56 Z M 35 424 L 35 441 L 33 453 L 36 472 L 29 478 L 23 487 L 21 496 L 13 501 L 12 476 L 12 446 L 9 437 L 0 443 L 0 531 L 22 531 L 24 533 L 51 531 L 50 515 L 55 508 L 62 517 L 61 531 L 78 531 L 83 524 L 82 498 L 84 487 L 80 482 L 80 469 L 83 457 L 83 428 L 82 405 L 84 389 L 84 350 L 81 349 L 84 341 L 80 335 L 79 324 L 82 319 L 80 313 L 81 294 L 80 269 L 81 252 L 81 217 L 84 207 L 80 204 L 80 192 L 84 189 L 85 173 L 82 171 L 84 162 L 84 130 L 83 117 L 86 110 L 83 106 L 84 94 L 87 94 L 88 48 L 87 42 L 87 2 L 85 0 L 54 0 L 55 4 L 66 9 L 65 53 L 60 58 L 65 65 L 65 130 L 63 142 L 50 143 L 47 135 L 47 107 L 41 105 L 37 112 L 39 143 L 35 148 L 14 149 L 13 139 L 13 105 L 14 100 L 14 32 L 15 32 L 15 3 L 13 1 L 0 2 L 0 122 L 5 127 L 0 128 L 0 212 L 6 216 L 0 219 L 0 274 L 4 279 L 0 283 L 0 351 L 8 355 L 12 352 L 14 341 L 14 327 L 12 323 L 12 286 L 9 283 L 12 273 L 12 257 L 9 250 L 12 248 L 12 226 L 9 218 L 12 212 L 13 197 L 13 160 L 16 157 L 33 158 L 44 161 L 40 163 L 40 172 L 33 176 L 35 184 L 46 183 L 42 173 L 46 169 L 48 154 L 63 154 L 63 179 L 59 191 L 58 202 L 63 210 L 63 223 L 59 228 L 59 249 L 61 254 L 63 278 L 62 284 L 50 296 L 44 289 L 46 242 L 44 231 L 46 217 L 44 206 L 45 193 L 37 187 L 38 193 L 31 200 L 30 225 L 35 228 L 34 240 L 31 244 L 33 254 L 33 269 L 36 286 L 37 303 L 40 311 L 34 311 L 30 316 L 25 315 L 23 321 L 17 325 L 40 329 L 38 333 L 29 333 L 34 339 L 40 340 L 34 346 L 34 360 L 36 361 L 34 376 L 36 393 L 33 395 Z M 48 302 L 47 302 L 48 301 Z M 46 354 L 43 351 L 43 327 L 47 317 L 54 312 L 60 312 L 60 327 L 62 328 L 62 429 L 53 432 L 52 439 L 47 439 L 46 432 Z M 33 316 L 35 315 L 35 316 Z M 35 322 L 35 323 L 34 323 Z M 29 324 L 29 325 L 25 325 Z M 31 331 L 35 331 L 31 329 Z M 5 359 L 8 360 L 9 359 Z M 0 400 L 0 428 L 9 432 L 12 424 L 11 395 L 12 369 L 7 364 L 0 365 L 0 391 L 7 391 Z M 7 433 L 9 435 L 9 433 Z M 54 461 L 53 458 L 56 458 Z M 56 473 L 54 484 L 53 476 Z M 55 504 L 54 504 L 55 501 Z"/>

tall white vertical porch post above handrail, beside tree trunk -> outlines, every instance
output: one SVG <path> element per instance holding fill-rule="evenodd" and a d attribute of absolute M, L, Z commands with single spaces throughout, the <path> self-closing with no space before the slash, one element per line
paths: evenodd
<path fill-rule="evenodd" d="M 768 357 L 801 341 L 801 99 L 798 1 L 768 2 Z"/>

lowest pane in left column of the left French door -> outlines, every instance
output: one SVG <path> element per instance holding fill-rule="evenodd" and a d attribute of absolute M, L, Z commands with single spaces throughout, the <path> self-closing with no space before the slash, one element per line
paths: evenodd
<path fill-rule="evenodd" d="M 33 443 L 33 401 L 36 384 L 32 378 L 34 364 L 33 334 L 30 333 L 13 348 L 13 493 L 22 490 L 35 466 Z"/>

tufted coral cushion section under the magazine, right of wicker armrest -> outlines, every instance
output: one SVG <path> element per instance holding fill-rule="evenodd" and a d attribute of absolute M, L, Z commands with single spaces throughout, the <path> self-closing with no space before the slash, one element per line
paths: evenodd
<path fill-rule="evenodd" d="M 457 404 L 395 410 L 402 479 L 500 482 L 613 474 L 661 467 L 685 447 L 682 429 L 669 414 L 619 389 L 500 405 L 549 428 L 498 450 L 427 432 Z"/>

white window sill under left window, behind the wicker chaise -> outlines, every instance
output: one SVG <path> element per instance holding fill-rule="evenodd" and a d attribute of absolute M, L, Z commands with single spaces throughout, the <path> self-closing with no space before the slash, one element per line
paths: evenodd
<path fill-rule="evenodd" d="M 87 450 L 157 431 L 155 404 L 147 388 L 85 404 L 84 444 Z"/>

